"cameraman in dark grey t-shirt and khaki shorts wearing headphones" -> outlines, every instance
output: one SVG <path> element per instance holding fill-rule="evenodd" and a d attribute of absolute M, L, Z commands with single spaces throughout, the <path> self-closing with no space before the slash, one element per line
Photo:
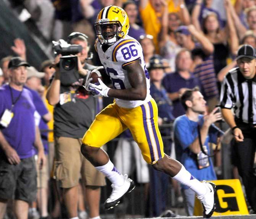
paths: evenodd
<path fill-rule="evenodd" d="M 53 65 L 56 72 L 46 94 L 49 104 L 55 105 L 53 113 L 56 149 L 54 174 L 61 182 L 65 205 L 72 219 L 78 219 L 80 174 L 86 186 L 90 218 L 100 218 L 100 186 L 105 185 L 104 175 L 97 171 L 80 152 L 81 138 L 94 120 L 97 111 L 97 99 L 88 95 L 82 87 L 88 70 L 96 68 L 86 63 L 89 50 L 87 38 L 79 32 L 68 36 L 68 43 L 83 47 L 83 50 L 77 54 L 78 71 L 60 72 L 58 67 L 60 55 L 58 55 Z"/>

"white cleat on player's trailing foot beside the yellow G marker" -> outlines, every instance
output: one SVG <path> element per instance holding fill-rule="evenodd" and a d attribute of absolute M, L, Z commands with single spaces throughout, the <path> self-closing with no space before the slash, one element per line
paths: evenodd
<path fill-rule="evenodd" d="M 203 204 L 203 218 L 210 218 L 215 210 L 215 203 L 214 203 L 214 193 L 216 185 L 213 182 L 206 182 L 203 181 L 204 185 L 207 188 L 207 192 L 205 195 L 198 196 L 197 198 Z"/>

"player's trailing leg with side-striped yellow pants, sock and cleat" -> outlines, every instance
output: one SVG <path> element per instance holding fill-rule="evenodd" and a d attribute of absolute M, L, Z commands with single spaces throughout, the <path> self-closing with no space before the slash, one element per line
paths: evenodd
<path fill-rule="evenodd" d="M 210 217 L 215 209 L 215 185 L 210 183 L 202 184 L 180 162 L 164 154 L 162 137 L 157 125 L 157 105 L 154 99 L 151 99 L 147 104 L 136 107 L 134 114 L 136 114 L 136 121 L 130 118 L 125 124 L 131 130 L 134 140 L 138 143 L 144 160 L 152 164 L 153 168 L 168 174 L 196 192 L 205 208 L 204 216 Z M 139 114 L 141 118 L 139 118 Z"/>

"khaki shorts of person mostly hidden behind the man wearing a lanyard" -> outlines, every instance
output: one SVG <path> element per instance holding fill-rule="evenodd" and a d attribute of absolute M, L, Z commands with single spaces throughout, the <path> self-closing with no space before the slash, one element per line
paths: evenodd
<path fill-rule="evenodd" d="M 49 181 L 49 164 L 48 164 L 48 155 L 45 155 L 46 163 L 42 169 L 39 169 L 39 166 L 36 163 L 36 172 L 37 172 L 37 188 L 48 188 Z M 37 162 L 37 155 L 35 155 L 35 160 Z"/>

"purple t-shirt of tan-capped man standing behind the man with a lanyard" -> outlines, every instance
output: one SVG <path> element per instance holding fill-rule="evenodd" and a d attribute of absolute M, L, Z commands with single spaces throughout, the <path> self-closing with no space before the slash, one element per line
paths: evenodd
<path fill-rule="evenodd" d="M 39 129 L 40 129 L 40 132 L 41 132 L 41 139 L 42 139 L 42 142 L 43 142 L 43 145 L 44 145 L 44 153 L 48 154 L 48 151 L 49 151 L 48 150 L 48 132 L 47 131 L 41 131 L 41 130 L 48 130 L 47 123 L 42 118 L 45 114 L 48 113 L 48 110 L 45 107 L 44 102 L 42 101 L 42 98 L 39 96 L 39 94 L 36 91 L 28 88 L 27 86 L 24 86 L 24 87 L 27 88 L 32 93 L 33 102 L 34 102 L 34 105 L 36 107 L 36 111 L 41 116 L 40 123 L 39 123 Z M 37 153 L 36 148 L 34 148 L 34 150 L 35 150 L 35 153 Z"/>

